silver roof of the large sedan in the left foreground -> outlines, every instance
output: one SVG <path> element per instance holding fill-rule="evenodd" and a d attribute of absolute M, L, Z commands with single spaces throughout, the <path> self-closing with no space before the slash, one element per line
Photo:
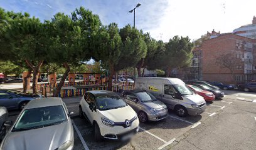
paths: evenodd
<path fill-rule="evenodd" d="M 25 106 L 24 109 L 31 109 L 31 108 L 43 108 L 47 106 L 58 106 L 62 105 L 61 98 L 41 98 L 29 101 L 29 103 Z"/>

